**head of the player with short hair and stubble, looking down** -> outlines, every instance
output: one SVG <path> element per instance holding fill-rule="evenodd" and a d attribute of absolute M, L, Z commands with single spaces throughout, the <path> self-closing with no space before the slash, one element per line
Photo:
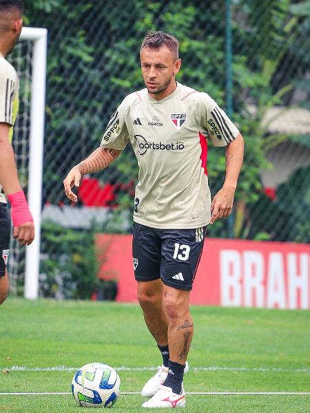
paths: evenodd
<path fill-rule="evenodd" d="M 150 94 L 164 97 L 173 92 L 176 74 L 180 70 L 178 41 L 171 34 L 148 33 L 140 50 L 141 70 Z M 162 96 L 163 95 L 163 96 Z"/>

